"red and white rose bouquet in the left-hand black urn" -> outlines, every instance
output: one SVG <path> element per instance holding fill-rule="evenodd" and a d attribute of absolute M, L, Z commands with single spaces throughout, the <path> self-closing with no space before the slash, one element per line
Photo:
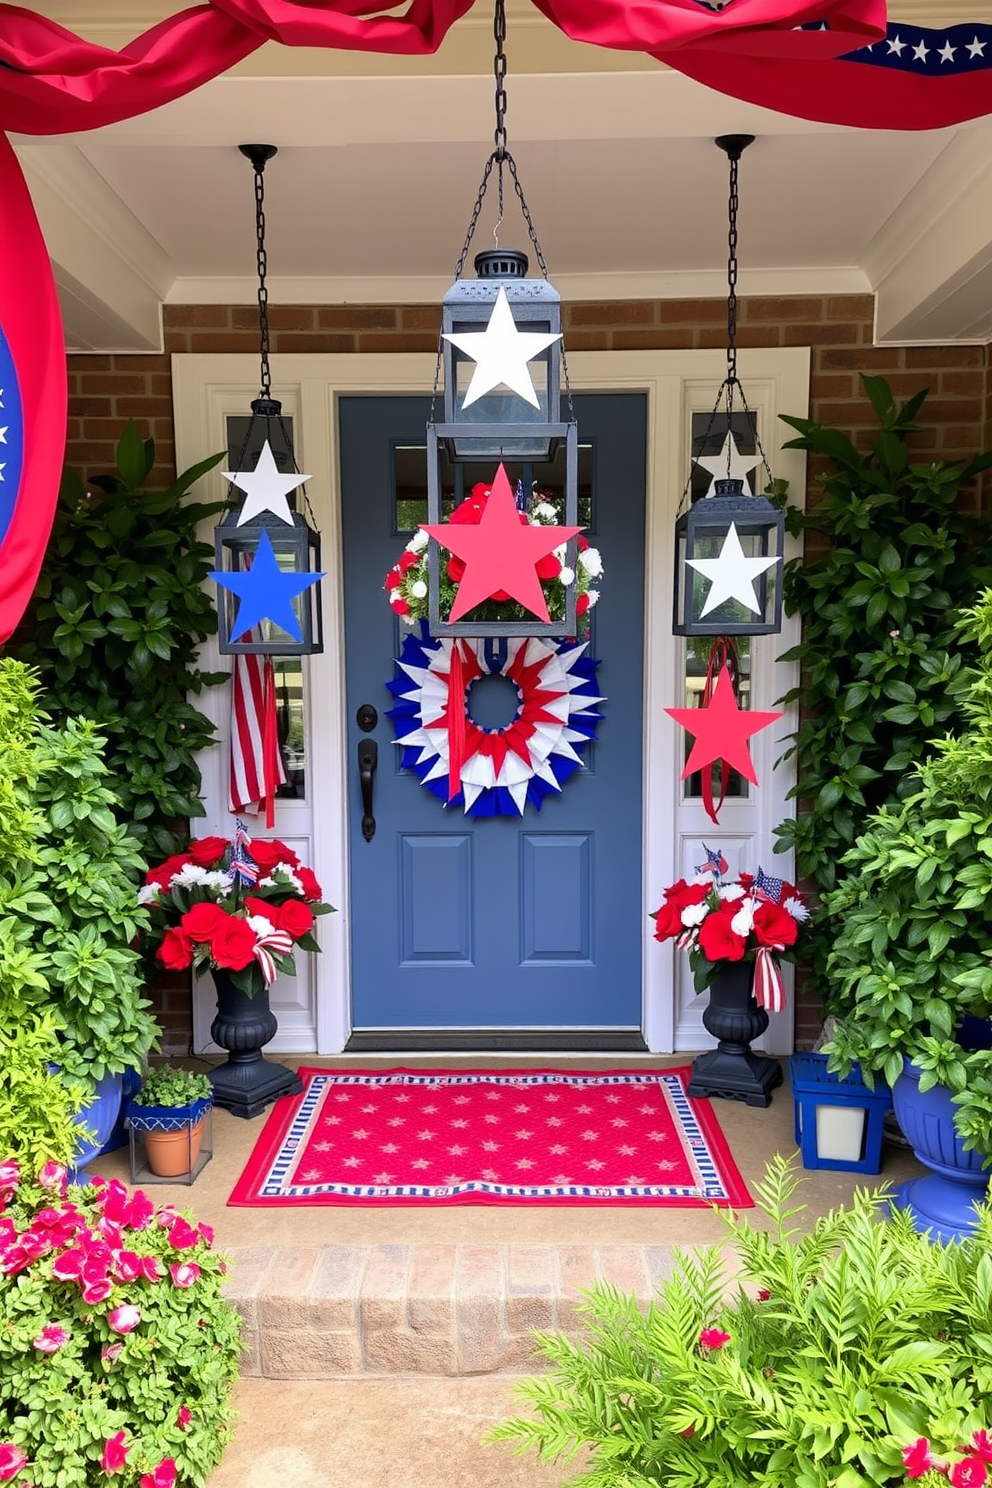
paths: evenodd
<path fill-rule="evenodd" d="M 293 976 L 296 948 L 320 951 L 314 918 L 332 912 L 311 869 L 277 838 L 198 838 L 149 869 L 138 899 L 162 966 L 231 972 L 248 995 L 280 972 Z"/>

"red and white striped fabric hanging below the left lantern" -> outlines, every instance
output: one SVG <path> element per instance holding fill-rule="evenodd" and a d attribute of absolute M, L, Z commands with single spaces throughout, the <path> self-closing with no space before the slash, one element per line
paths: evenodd
<path fill-rule="evenodd" d="M 231 809 L 265 811 L 275 826 L 275 792 L 286 784 L 277 734 L 271 656 L 236 655 L 231 701 Z"/>

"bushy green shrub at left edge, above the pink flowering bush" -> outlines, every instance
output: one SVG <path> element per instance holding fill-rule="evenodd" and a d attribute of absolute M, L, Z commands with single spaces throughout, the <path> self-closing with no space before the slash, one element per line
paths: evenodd
<path fill-rule="evenodd" d="M 140 1068 L 158 1034 L 132 948 L 147 927 L 134 887 L 143 860 L 117 821 L 97 726 L 51 728 L 37 692 L 30 668 L 0 659 L 0 696 L 19 698 L 9 732 L 21 774 L 9 778 L 31 826 L 28 851 L 0 860 L 0 992 L 7 1018 L 51 1019 L 57 1062 L 92 1091 Z"/>

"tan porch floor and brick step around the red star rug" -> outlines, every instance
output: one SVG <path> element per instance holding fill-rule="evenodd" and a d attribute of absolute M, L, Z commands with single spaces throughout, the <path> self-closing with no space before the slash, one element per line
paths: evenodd
<path fill-rule="evenodd" d="M 692 1055 L 620 1061 L 495 1056 L 284 1058 L 326 1068 L 663 1068 Z M 793 1153 L 788 1083 L 767 1110 L 714 1101 L 753 1190 L 776 1152 Z M 577 1290 L 595 1277 L 647 1301 L 672 1248 L 723 1244 L 708 1210 L 228 1208 L 226 1199 L 268 1113 L 245 1122 L 214 1112 L 214 1159 L 192 1187 L 149 1186 L 156 1204 L 189 1208 L 232 1260 L 229 1296 L 244 1317 L 241 1420 L 210 1488 L 553 1488 L 565 1466 L 483 1446 L 513 1414 L 515 1378 L 532 1372 L 534 1327 L 579 1330 Z M 92 1165 L 128 1178 L 126 1152 Z M 858 1186 L 922 1171 L 886 1144 L 877 1178 L 809 1173 L 808 1220 Z M 750 1211 L 754 1214 L 756 1211 Z M 574 1470 L 574 1469 L 573 1469 Z"/>

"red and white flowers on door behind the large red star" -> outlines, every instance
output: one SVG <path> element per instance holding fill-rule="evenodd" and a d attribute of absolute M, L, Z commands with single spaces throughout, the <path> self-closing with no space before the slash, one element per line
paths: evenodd
<path fill-rule="evenodd" d="M 476 525 L 482 521 L 482 513 L 486 509 L 486 501 L 491 494 L 491 487 L 482 484 L 474 485 L 464 501 L 460 501 L 460 504 L 454 509 L 448 521 Z M 544 494 L 537 497 L 529 512 L 521 512 L 519 516 L 524 525 L 531 522 L 537 527 L 553 527 L 561 522 L 561 513 Z M 564 546 L 555 549 L 553 554 L 547 554 L 537 564 L 537 577 L 541 580 L 541 589 L 544 591 L 544 598 L 547 601 L 547 613 L 553 620 L 564 616 L 565 598 L 573 585 L 576 585 L 577 616 L 586 615 L 586 612 L 590 610 L 599 598 L 599 589 L 592 588 L 593 580 L 599 579 L 602 574 L 602 558 L 599 557 L 599 549 L 590 548 L 582 533 L 579 534 L 577 543 L 579 561 L 576 568 L 570 568 L 567 565 Z M 427 545 L 427 533 L 424 528 L 419 528 L 413 533 L 409 543 L 400 554 L 399 561 L 393 564 L 385 576 L 384 589 L 388 601 L 394 613 L 399 615 L 408 625 L 415 625 L 416 620 L 425 620 L 428 618 Z M 442 615 L 448 615 L 451 612 L 464 573 L 464 561 L 457 558 L 454 554 L 449 554 L 448 564 L 442 568 L 440 574 Z M 491 603 L 504 606 L 509 600 L 509 594 L 503 589 L 497 589 Z M 516 603 L 510 604 L 509 610 L 498 609 L 492 610 L 491 615 L 488 613 L 489 604 L 480 606 L 480 609 L 486 610 L 486 613 L 480 616 L 482 619 L 534 619 L 529 612 L 525 612 Z"/>

